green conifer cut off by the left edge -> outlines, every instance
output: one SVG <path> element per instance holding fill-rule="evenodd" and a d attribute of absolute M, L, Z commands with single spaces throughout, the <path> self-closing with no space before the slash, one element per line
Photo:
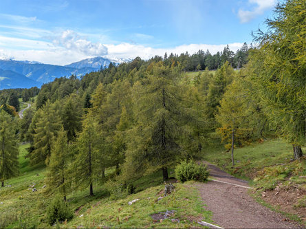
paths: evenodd
<path fill-rule="evenodd" d="M 13 118 L 5 111 L 0 111 L 0 181 L 18 175 L 18 146 Z"/>

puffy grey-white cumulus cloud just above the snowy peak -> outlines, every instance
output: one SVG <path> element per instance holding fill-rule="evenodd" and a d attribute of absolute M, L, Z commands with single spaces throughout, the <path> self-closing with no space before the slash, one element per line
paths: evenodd
<path fill-rule="evenodd" d="M 67 50 L 83 53 L 87 56 L 104 56 L 107 47 L 101 43 L 92 43 L 72 30 L 65 30 L 53 40 L 54 45 L 65 47 Z"/>

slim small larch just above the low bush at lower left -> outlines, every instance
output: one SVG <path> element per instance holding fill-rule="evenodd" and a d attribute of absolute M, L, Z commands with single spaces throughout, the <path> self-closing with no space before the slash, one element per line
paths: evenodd
<path fill-rule="evenodd" d="M 69 144 L 67 135 L 63 127 L 58 131 L 58 137 L 52 146 L 50 163 L 47 167 L 47 191 L 49 193 L 59 193 L 66 201 L 69 192 L 68 165 L 69 165 Z"/>

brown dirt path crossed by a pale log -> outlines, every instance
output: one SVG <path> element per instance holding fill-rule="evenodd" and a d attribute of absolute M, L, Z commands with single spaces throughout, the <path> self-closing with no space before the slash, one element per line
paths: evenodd
<path fill-rule="evenodd" d="M 212 179 L 221 182 L 209 181 L 197 186 L 206 209 L 213 212 L 212 219 L 217 225 L 222 228 L 298 228 L 297 224 L 285 221 L 283 215 L 250 197 L 249 188 L 246 188 L 248 182 L 232 177 L 212 164 L 208 164 L 208 168 Z"/>

